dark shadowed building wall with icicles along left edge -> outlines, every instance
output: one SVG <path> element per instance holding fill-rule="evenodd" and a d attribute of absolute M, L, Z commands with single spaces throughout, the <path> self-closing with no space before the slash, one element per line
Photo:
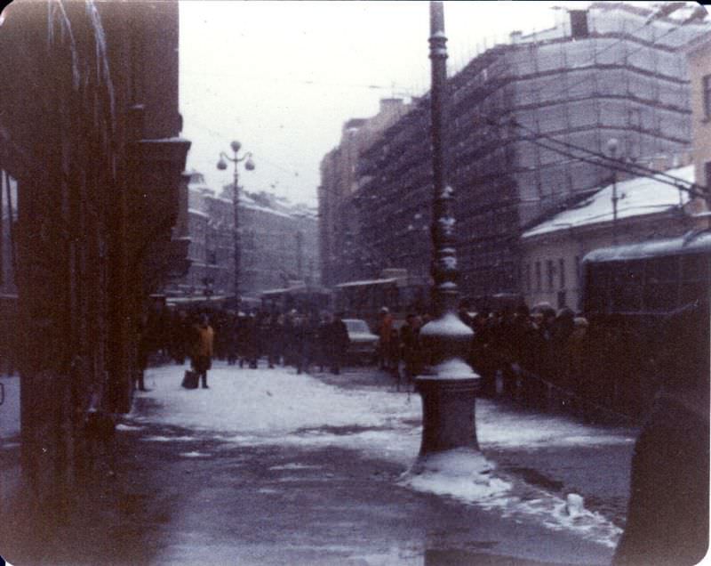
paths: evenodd
<path fill-rule="evenodd" d="M 143 20 L 153 5 L 162 15 Z M 82 473 L 88 410 L 128 410 L 136 324 L 170 268 L 189 143 L 139 142 L 174 138 L 180 115 L 177 91 L 162 106 L 170 87 L 134 63 L 156 61 L 156 77 L 177 85 L 175 44 L 156 40 L 177 36 L 176 10 L 23 2 L 4 12 L 0 169 L 18 180 L 23 472 L 38 497 Z M 160 230 L 141 230 L 145 215 Z"/>

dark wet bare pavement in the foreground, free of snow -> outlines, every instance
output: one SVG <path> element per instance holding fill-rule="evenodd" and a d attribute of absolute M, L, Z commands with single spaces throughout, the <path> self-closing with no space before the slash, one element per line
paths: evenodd
<path fill-rule="evenodd" d="M 343 387 L 384 385 L 372 374 L 322 377 Z M 144 418 L 140 429 L 117 437 L 116 477 L 98 470 L 85 486 L 84 512 L 65 517 L 61 528 L 48 526 L 29 550 L 27 543 L 11 545 L 21 555 L 13 561 L 5 552 L 6 558 L 52 565 L 610 562 L 610 548 L 571 533 L 401 487 L 396 480 L 405 469 L 391 461 L 333 446 L 241 447 L 204 431 L 152 424 L 161 410 L 155 399 L 137 398 L 132 416 Z M 156 435 L 191 440 L 145 441 Z M 568 480 L 541 471 L 541 458 L 529 454 L 529 462 L 527 454 L 493 456 L 528 474 L 532 485 L 563 489 L 555 482 Z M 570 461 L 577 470 L 571 477 L 585 473 L 585 454 Z M 603 478 L 603 469 L 597 474 Z"/>

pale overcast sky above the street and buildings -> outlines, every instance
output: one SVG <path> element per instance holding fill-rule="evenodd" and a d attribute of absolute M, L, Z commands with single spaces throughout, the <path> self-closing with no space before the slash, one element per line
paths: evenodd
<path fill-rule="evenodd" d="M 483 44 L 511 31 L 549 28 L 580 2 L 445 2 L 449 74 Z M 645 3 L 647 4 L 647 3 Z M 237 139 L 256 170 L 245 190 L 273 190 L 316 205 L 319 162 L 343 122 L 377 113 L 379 99 L 429 88 L 428 2 L 266 2 L 180 4 L 180 110 L 192 140 L 188 168 L 215 189 L 220 150 Z"/>

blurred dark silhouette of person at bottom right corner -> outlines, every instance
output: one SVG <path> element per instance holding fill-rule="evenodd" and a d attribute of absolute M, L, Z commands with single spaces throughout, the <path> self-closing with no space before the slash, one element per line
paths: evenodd
<path fill-rule="evenodd" d="M 708 550 L 709 307 L 666 321 L 663 386 L 635 444 L 615 566 L 686 566 Z"/>

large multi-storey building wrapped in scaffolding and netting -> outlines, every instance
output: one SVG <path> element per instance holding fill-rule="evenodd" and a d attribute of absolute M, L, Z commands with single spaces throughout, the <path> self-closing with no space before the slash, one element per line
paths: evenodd
<path fill-rule="evenodd" d="M 465 294 L 520 292 L 524 230 L 599 190 L 615 168 L 689 149 L 682 48 L 709 33 L 697 8 L 591 4 L 546 31 L 512 33 L 451 77 L 449 179 Z M 358 239 L 378 267 L 429 271 L 428 127 L 425 95 L 361 153 Z"/>

